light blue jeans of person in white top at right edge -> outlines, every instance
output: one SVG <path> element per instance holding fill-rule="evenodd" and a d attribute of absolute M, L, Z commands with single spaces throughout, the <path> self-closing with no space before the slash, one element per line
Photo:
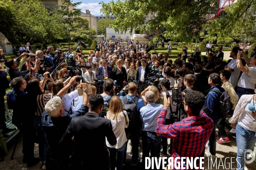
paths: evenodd
<path fill-rule="evenodd" d="M 237 143 L 237 169 L 244 170 L 244 151 L 247 149 L 253 150 L 256 143 L 255 132 L 246 130 L 241 125 L 236 125 L 236 143 Z M 249 153 L 246 153 L 246 157 Z M 240 158 L 239 158 L 240 157 Z M 240 165 L 241 167 L 240 167 Z"/>

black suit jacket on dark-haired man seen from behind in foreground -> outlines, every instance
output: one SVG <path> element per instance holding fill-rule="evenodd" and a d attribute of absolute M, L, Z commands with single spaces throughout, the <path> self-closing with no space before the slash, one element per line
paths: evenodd
<path fill-rule="evenodd" d="M 84 116 L 71 119 L 59 144 L 64 148 L 74 136 L 76 169 L 109 170 L 110 161 L 106 147 L 106 137 L 111 145 L 116 144 L 116 136 L 109 119 L 88 112 Z M 100 162 L 99 162 L 100 161 Z"/>

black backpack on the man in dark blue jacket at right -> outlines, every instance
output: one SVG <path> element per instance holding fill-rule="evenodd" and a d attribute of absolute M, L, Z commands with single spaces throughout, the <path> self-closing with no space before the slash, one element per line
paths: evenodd
<path fill-rule="evenodd" d="M 217 104 L 217 113 L 218 116 L 222 119 L 227 116 L 231 110 L 232 104 L 230 95 L 227 93 L 227 91 L 224 91 L 223 93 L 215 89 L 212 89 L 210 91 L 214 91 L 220 96 L 220 103 Z"/>

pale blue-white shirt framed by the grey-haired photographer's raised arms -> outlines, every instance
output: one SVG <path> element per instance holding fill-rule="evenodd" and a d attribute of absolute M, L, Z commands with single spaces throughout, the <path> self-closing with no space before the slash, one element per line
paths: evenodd
<path fill-rule="evenodd" d="M 73 106 L 73 103 L 72 100 L 75 99 L 76 97 L 78 97 L 78 91 L 75 90 L 75 91 L 72 91 L 71 93 L 69 94 L 64 94 L 64 96 L 62 97 L 61 101 L 63 102 L 63 104 L 65 105 L 65 110 L 61 116 L 67 116 L 68 115 L 68 111 L 70 111 L 70 108 L 71 108 L 71 111 L 72 113 L 75 112 L 75 108 Z"/>

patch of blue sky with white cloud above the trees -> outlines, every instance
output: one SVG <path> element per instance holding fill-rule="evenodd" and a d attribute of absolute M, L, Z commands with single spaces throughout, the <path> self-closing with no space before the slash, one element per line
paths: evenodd
<path fill-rule="evenodd" d="M 89 9 L 91 14 L 100 15 L 100 9 L 102 8 L 102 6 L 99 5 L 99 2 L 102 2 L 102 1 L 104 3 L 109 3 L 111 0 L 73 0 L 73 3 L 82 2 L 76 8 L 81 8 L 82 9 L 81 11 L 84 13 L 85 13 L 85 9 Z"/>

